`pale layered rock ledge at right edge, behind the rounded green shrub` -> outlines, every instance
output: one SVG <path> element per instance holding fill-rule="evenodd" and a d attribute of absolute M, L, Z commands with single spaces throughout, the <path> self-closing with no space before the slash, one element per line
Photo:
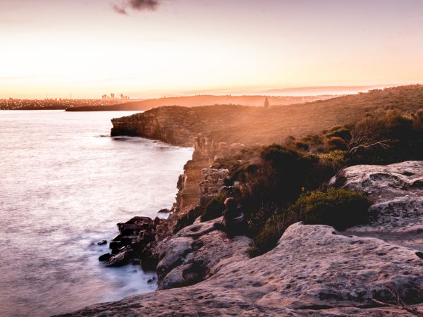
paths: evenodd
<path fill-rule="evenodd" d="M 350 228 L 348 234 L 423 250 L 423 161 L 351 166 L 331 182 L 367 192 L 374 201 L 372 223 Z"/>

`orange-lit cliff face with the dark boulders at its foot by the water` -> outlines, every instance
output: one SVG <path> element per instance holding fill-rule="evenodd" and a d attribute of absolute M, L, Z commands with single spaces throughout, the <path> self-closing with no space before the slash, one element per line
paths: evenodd
<path fill-rule="evenodd" d="M 169 213 L 168 218 L 136 216 L 125 223 L 118 223 L 119 234 L 109 242 L 111 252 L 99 256 L 99 261 L 106 262 L 106 266 L 135 263 L 144 270 L 159 272 L 157 265 L 164 241 L 191 225 L 223 186 L 223 179 L 229 171 L 214 168 L 214 161 L 233 154 L 242 146 L 216 143 L 208 137 L 195 138 L 192 160 L 185 164 L 184 173 L 178 178 L 176 202 L 170 210 L 159 211 Z M 159 285 L 162 282 L 160 276 Z"/>

